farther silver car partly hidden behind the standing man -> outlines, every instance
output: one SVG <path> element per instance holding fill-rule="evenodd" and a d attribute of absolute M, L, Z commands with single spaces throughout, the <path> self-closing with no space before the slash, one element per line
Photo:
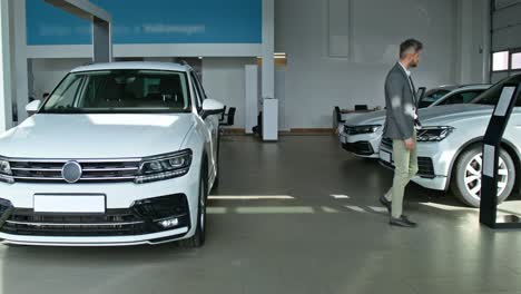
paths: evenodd
<path fill-rule="evenodd" d="M 445 86 L 432 89 L 421 99 L 420 108 L 442 105 L 468 104 L 491 85 Z M 385 110 L 361 115 L 347 119 L 338 127 L 342 147 L 357 157 L 379 158 Z"/>

